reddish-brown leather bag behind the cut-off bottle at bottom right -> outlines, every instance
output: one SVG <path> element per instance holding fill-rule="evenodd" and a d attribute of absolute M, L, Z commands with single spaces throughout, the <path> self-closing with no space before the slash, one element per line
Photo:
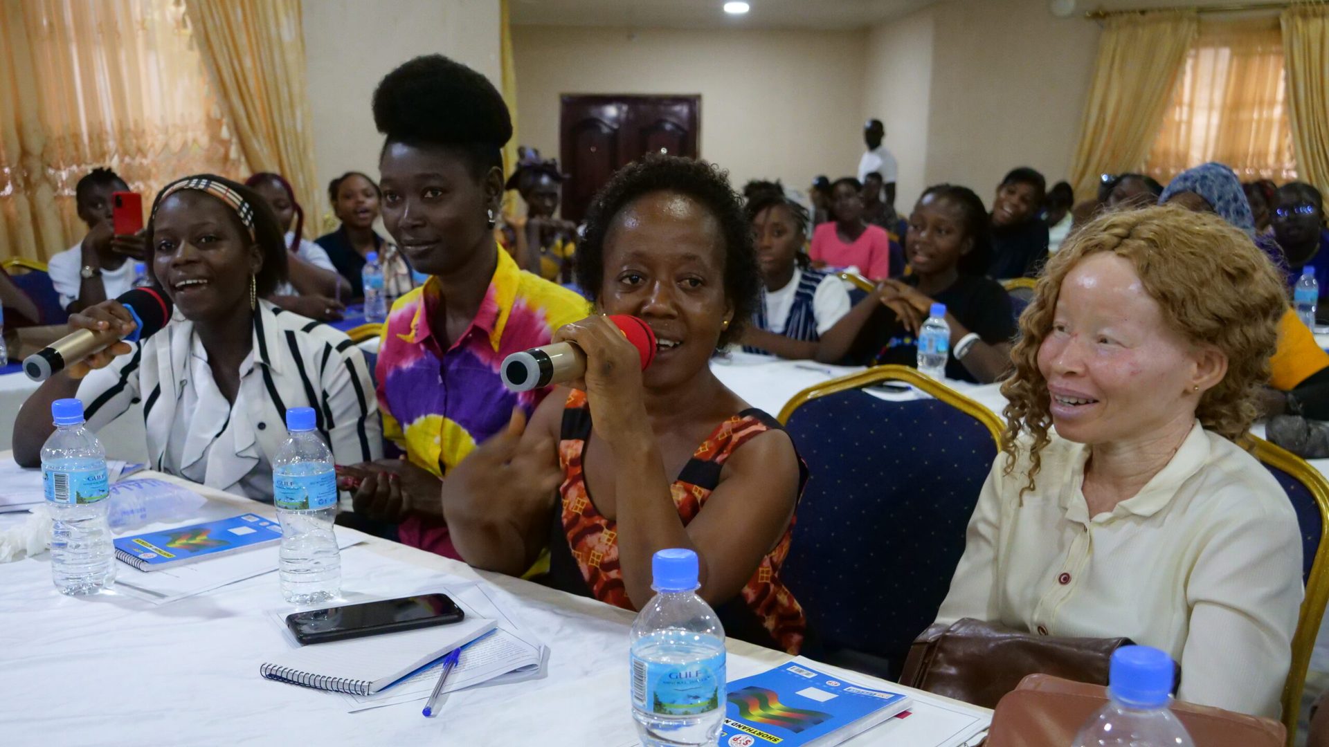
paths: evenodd
<path fill-rule="evenodd" d="M 1103 704 L 1107 690 L 1045 674 L 1026 677 L 997 703 L 983 747 L 1065 747 Z M 1282 747 L 1282 724 L 1174 700 L 1172 714 L 1203 747 Z"/>

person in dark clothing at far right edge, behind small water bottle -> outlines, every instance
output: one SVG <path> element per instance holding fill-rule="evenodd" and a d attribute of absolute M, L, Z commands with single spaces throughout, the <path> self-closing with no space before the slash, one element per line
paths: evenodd
<path fill-rule="evenodd" d="M 1316 280 L 1320 282 L 1320 308 L 1316 314 L 1321 320 L 1329 319 L 1329 230 L 1325 229 L 1320 190 L 1305 182 L 1282 185 L 1272 225 L 1278 242 L 1275 265 L 1284 271 L 1288 287 L 1296 284 L 1302 268 L 1314 267 Z"/>

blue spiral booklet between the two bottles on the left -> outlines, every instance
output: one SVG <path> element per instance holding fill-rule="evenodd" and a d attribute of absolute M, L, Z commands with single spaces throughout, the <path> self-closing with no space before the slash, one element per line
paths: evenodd
<path fill-rule="evenodd" d="M 260 548 L 280 538 L 280 524 L 255 513 L 246 513 L 219 521 L 120 537 L 116 540 L 116 557 L 138 570 L 158 570 Z"/>

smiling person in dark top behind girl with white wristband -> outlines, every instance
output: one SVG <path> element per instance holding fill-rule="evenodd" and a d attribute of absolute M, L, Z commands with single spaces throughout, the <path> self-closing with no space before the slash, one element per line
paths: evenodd
<path fill-rule="evenodd" d="M 1043 175 L 1025 166 L 1011 170 L 998 185 L 989 278 L 1033 278 L 1047 261 L 1047 223 L 1038 219 L 1046 187 Z"/>

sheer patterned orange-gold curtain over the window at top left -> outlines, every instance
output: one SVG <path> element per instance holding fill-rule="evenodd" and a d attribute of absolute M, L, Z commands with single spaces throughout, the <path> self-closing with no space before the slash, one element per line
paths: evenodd
<path fill-rule="evenodd" d="M 145 207 L 245 162 L 178 0 L 0 0 L 0 258 L 45 261 L 86 227 L 74 185 L 114 169 Z"/>

